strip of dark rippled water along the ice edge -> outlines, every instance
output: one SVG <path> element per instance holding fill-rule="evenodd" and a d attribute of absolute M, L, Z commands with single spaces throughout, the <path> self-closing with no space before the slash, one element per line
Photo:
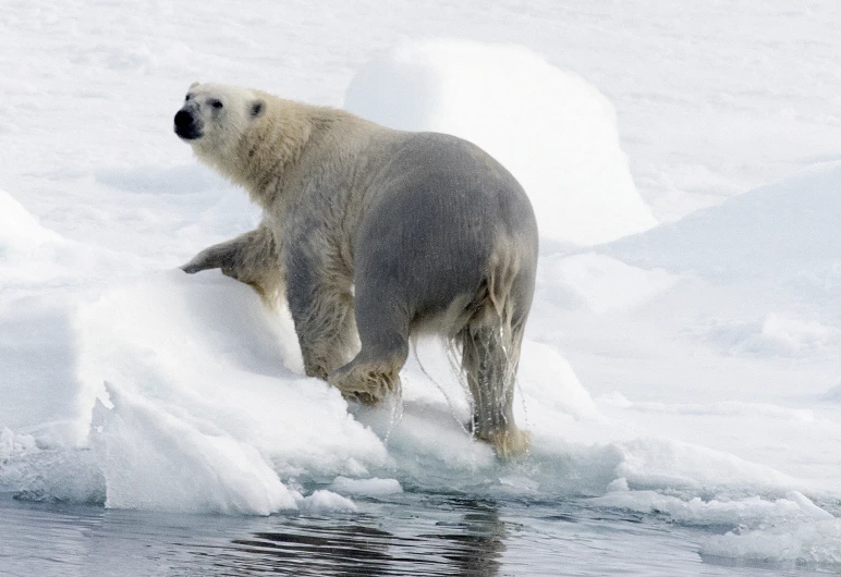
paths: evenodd
<path fill-rule="evenodd" d="M 815 574 L 702 560 L 699 542 L 709 532 L 575 500 L 403 493 L 355 502 L 359 512 L 353 514 L 234 517 L 0 495 L 0 575 Z"/>

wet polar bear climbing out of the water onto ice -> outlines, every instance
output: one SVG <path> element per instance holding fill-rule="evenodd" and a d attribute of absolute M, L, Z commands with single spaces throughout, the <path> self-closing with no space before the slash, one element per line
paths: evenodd
<path fill-rule="evenodd" d="M 443 335 L 475 437 L 502 458 L 526 451 L 512 402 L 538 241 L 509 171 L 454 136 L 220 84 L 192 85 L 174 130 L 263 209 L 184 271 L 221 268 L 285 297 L 306 373 L 352 401 L 397 391 L 410 339 Z"/>

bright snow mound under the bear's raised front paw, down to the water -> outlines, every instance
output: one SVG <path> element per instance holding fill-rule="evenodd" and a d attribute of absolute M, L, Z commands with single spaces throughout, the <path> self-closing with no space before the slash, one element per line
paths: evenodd
<path fill-rule="evenodd" d="M 385 458 L 337 390 L 297 372 L 291 319 L 218 272 L 115 285 L 78 327 L 80 385 L 113 404 L 97 405 L 93 433 L 109 504 L 178 508 L 153 490 L 166 469 L 185 510 L 263 514 L 291 503 L 279 476 L 361 475 Z"/>

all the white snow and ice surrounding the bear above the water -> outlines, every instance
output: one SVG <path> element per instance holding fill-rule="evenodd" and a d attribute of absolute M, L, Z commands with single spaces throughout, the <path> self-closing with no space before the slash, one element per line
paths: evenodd
<path fill-rule="evenodd" d="M 727 528 L 703 554 L 841 563 L 839 22 L 830 1 L 4 0 L 0 491 L 259 515 L 583 495 Z M 451 132 L 522 181 L 527 459 L 470 439 L 438 344 L 401 406 L 349 407 L 303 377 L 283 310 L 176 270 L 258 220 L 172 133 L 195 79 Z"/>

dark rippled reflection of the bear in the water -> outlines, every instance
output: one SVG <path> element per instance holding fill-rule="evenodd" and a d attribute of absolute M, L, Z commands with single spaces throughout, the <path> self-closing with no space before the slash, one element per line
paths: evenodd
<path fill-rule="evenodd" d="M 367 516 L 353 524 L 285 518 L 283 530 L 233 540 L 233 552 L 218 551 L 214 564 L 235 567 L 240 575 L 498 575 L 507 528 L 496 505 L 450 499 L 437 508 L 442 520 L 435 524 L 435 533 L 411 517 L 395 519 L 390 530 L 373 526 L 383 519 Z"/>

